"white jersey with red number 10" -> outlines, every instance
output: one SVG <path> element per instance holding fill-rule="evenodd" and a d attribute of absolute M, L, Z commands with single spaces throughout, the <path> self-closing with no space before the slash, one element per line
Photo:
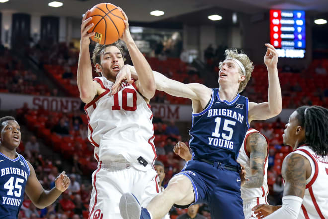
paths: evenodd
<path fill-rule="evenodd" d="M 150 105 L 139 94 L 135 83 L 123 82 L 120 91 L 112 95 L 113 82 L 105 77 L 94 80 L 106 90 L 84 107 L 95 159 L 128 162 L 146 170 L 138 158 L 141 156 L 149 164 L 156 159 Z"/>

